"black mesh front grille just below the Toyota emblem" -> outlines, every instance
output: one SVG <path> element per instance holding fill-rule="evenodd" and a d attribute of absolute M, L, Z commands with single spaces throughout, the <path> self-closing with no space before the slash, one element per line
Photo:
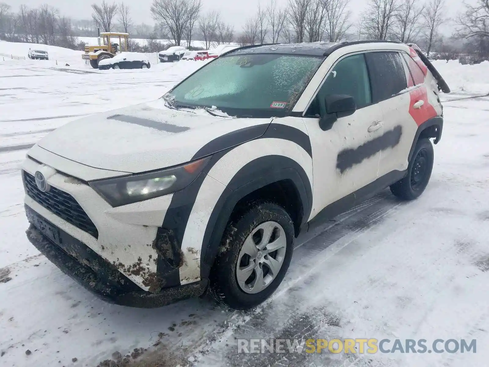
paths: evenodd
<path fill-rule="evenodd" d="M 23 176 L 27 195 L 58 217 L 98 238 L 97 228 L 74 197 L 56 187 L 43 192 L 37 187 L 34 176 L 25 171 Z"/>

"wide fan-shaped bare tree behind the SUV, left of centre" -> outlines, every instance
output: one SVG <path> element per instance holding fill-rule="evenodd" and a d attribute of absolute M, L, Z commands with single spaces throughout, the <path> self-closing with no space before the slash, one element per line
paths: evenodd
<path fill-rule="evenodd" d="M 190 18 L 196 17 L 196 7 L 200 11 L 201 0 L 153 0 L 151 13 L 153 19 L 169 32 L 175 44 L 180 46 Z"/>

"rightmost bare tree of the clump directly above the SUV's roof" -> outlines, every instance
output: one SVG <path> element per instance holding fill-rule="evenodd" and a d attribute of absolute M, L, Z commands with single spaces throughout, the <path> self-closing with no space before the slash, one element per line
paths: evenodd
<path fill-rule="evenodd" d="M 346 37 L 352 27 L 352 12 L 348 10 L 349 0 L 326 1 L 326 38 L 329 42 L 339 42 Z"/>

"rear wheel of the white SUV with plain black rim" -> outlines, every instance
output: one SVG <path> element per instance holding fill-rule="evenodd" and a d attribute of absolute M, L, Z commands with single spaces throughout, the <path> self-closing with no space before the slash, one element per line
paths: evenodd
<path fill-rule="evenodd" d="M 409 162 L 407 176 L 390 186 L 391 192 L 402 200 L 417 199 L 428 185 L 435 153 L 430 139 L 420 139 Z"/>

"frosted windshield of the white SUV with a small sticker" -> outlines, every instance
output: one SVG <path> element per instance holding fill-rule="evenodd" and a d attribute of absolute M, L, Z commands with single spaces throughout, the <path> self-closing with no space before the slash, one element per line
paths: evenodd
<path fill-rule="evenodd" d="M 172 107 L 213 108 L 238 117 L 287 115 L 322 57 L 248 54 L 215 59 L 164 98 Z"/>

